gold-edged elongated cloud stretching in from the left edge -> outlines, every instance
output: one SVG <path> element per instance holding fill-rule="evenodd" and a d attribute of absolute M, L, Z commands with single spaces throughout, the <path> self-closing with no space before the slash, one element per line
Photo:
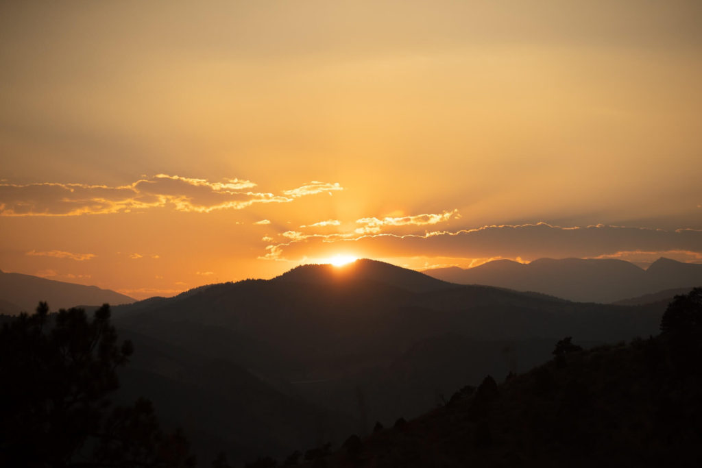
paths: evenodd
<path fill-rule="evenodd" d="M 249 180 L 206 179 L 157 174 L 130 185 L 58 184 L 41 182 L 27 185 L 0 184 L 2 216 L 74 216 L 84 214 L 129 213 L 133 210 L 169 207 L 178 211 L 209 213 L 213 210 L 240 210 L 253 203 L 289 203 L 305 195 L 341 190 L 338 183 L 311 182 L 282 195 L 252 192 Z"/>

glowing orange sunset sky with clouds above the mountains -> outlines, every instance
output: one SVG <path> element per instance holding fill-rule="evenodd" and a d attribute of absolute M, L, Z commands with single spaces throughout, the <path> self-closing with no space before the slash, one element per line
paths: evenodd
<path fill-rule="evenodd" d="M 702 262 L 696 0 L 5 1 L 0 269 Z"/>

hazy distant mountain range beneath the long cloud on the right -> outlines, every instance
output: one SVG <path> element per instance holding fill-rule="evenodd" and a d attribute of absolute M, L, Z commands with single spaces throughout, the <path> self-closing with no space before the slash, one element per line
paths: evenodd
<path fill-rule="evenodd" d="M 437 268 L 423 273 L 451 283 L 535 291 L 578 302 L 617 302 L 702 286 L 701 264 L 669 258 L 659 258 L 645 270 L 623 260 L 541 258 L 528 264 L 495 260 L 470 269 Z"/>

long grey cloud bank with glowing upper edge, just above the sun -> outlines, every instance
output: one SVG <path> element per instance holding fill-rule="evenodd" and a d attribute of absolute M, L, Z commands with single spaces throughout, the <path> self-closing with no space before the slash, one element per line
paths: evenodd
<path fill-rule="evenodd" d="M 484 226 L 456 232 L 423 235 L 366 234 L 355 237 L 300 236 L 268 246 L 264 258 L 302 260 L 333 255 L 343 248 L 377 258 L 593 258 L 630 250 L 702 252 L 702 232 L 664 231 L 620 226 L 559 227 L 544 222 L 527 225 Z"/>

